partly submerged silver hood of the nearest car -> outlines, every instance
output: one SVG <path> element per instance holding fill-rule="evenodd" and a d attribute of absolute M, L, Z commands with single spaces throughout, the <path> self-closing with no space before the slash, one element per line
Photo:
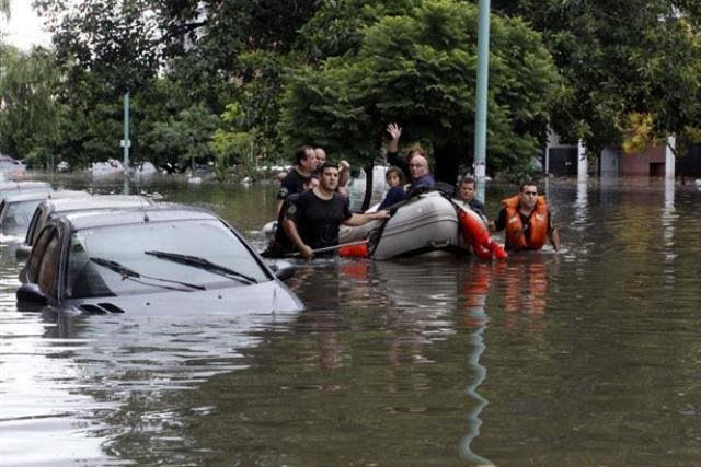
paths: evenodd
<path fill-rule="evenodd" d="M 84 314 L 262 314 L 300 312 L 304 305 L 283 282 L 272 280 L 205 291 L 172 291 L 68 300 L 61 308 Z"/>

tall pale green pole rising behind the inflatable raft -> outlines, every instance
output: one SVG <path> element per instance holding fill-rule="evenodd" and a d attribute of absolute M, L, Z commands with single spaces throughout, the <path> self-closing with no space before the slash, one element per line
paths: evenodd
<path fill-rule="evenodd" d="M 476 198 L 484 202 L 486 174 L 486 101 L 490 78 L 490 0 L 480 0 L 478 26 L 478 89 L 474 110 L 474 178 Z"/>

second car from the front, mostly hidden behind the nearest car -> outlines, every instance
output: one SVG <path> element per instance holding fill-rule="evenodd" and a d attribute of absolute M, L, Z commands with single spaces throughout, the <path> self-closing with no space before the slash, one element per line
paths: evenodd
<path fill-rule="evenodd" d="M 26 230 L 24 243 L 16 249 L 16 258 L 24 260 L 32 252 L 32 245 L 47 221 L 57 215 L 78 211 L 118 211 L 152 206 L 153 201 L 141 196 L 96 195 L 85 198 L 47 198 L 39 202 Z"/>

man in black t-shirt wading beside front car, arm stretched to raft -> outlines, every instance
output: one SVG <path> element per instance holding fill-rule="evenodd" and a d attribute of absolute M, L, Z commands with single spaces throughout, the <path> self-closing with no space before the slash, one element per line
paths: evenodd
<path fill-rule="evenodd" d="M 341 224 L 355 226 L 389 218 L 384 210 L 352 213 L 348 199 L 336 192 L 337 186 L 338 166 L 326 162 L 321 170 L 319 186 L 303 192 L 285 211 L 285 233 L 304 259 L 314 257 L 313 250 L 317 248 L 338 245 Z M 322 255 L 332 256 L 335 252 Z"/>

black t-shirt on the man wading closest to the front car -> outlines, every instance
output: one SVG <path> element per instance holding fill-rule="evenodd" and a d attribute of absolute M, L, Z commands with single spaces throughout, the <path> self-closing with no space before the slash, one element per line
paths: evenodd
<path fill-rule="evenodd" d="M 319 198 L 314 190 L 304 191 L 290 203 L 285 217 L 295 221 L 302 241 L 312 249 L 338 244 L 338 229 L 353 214 L 348 199 L 333 194 L 333 198 Z"/>

